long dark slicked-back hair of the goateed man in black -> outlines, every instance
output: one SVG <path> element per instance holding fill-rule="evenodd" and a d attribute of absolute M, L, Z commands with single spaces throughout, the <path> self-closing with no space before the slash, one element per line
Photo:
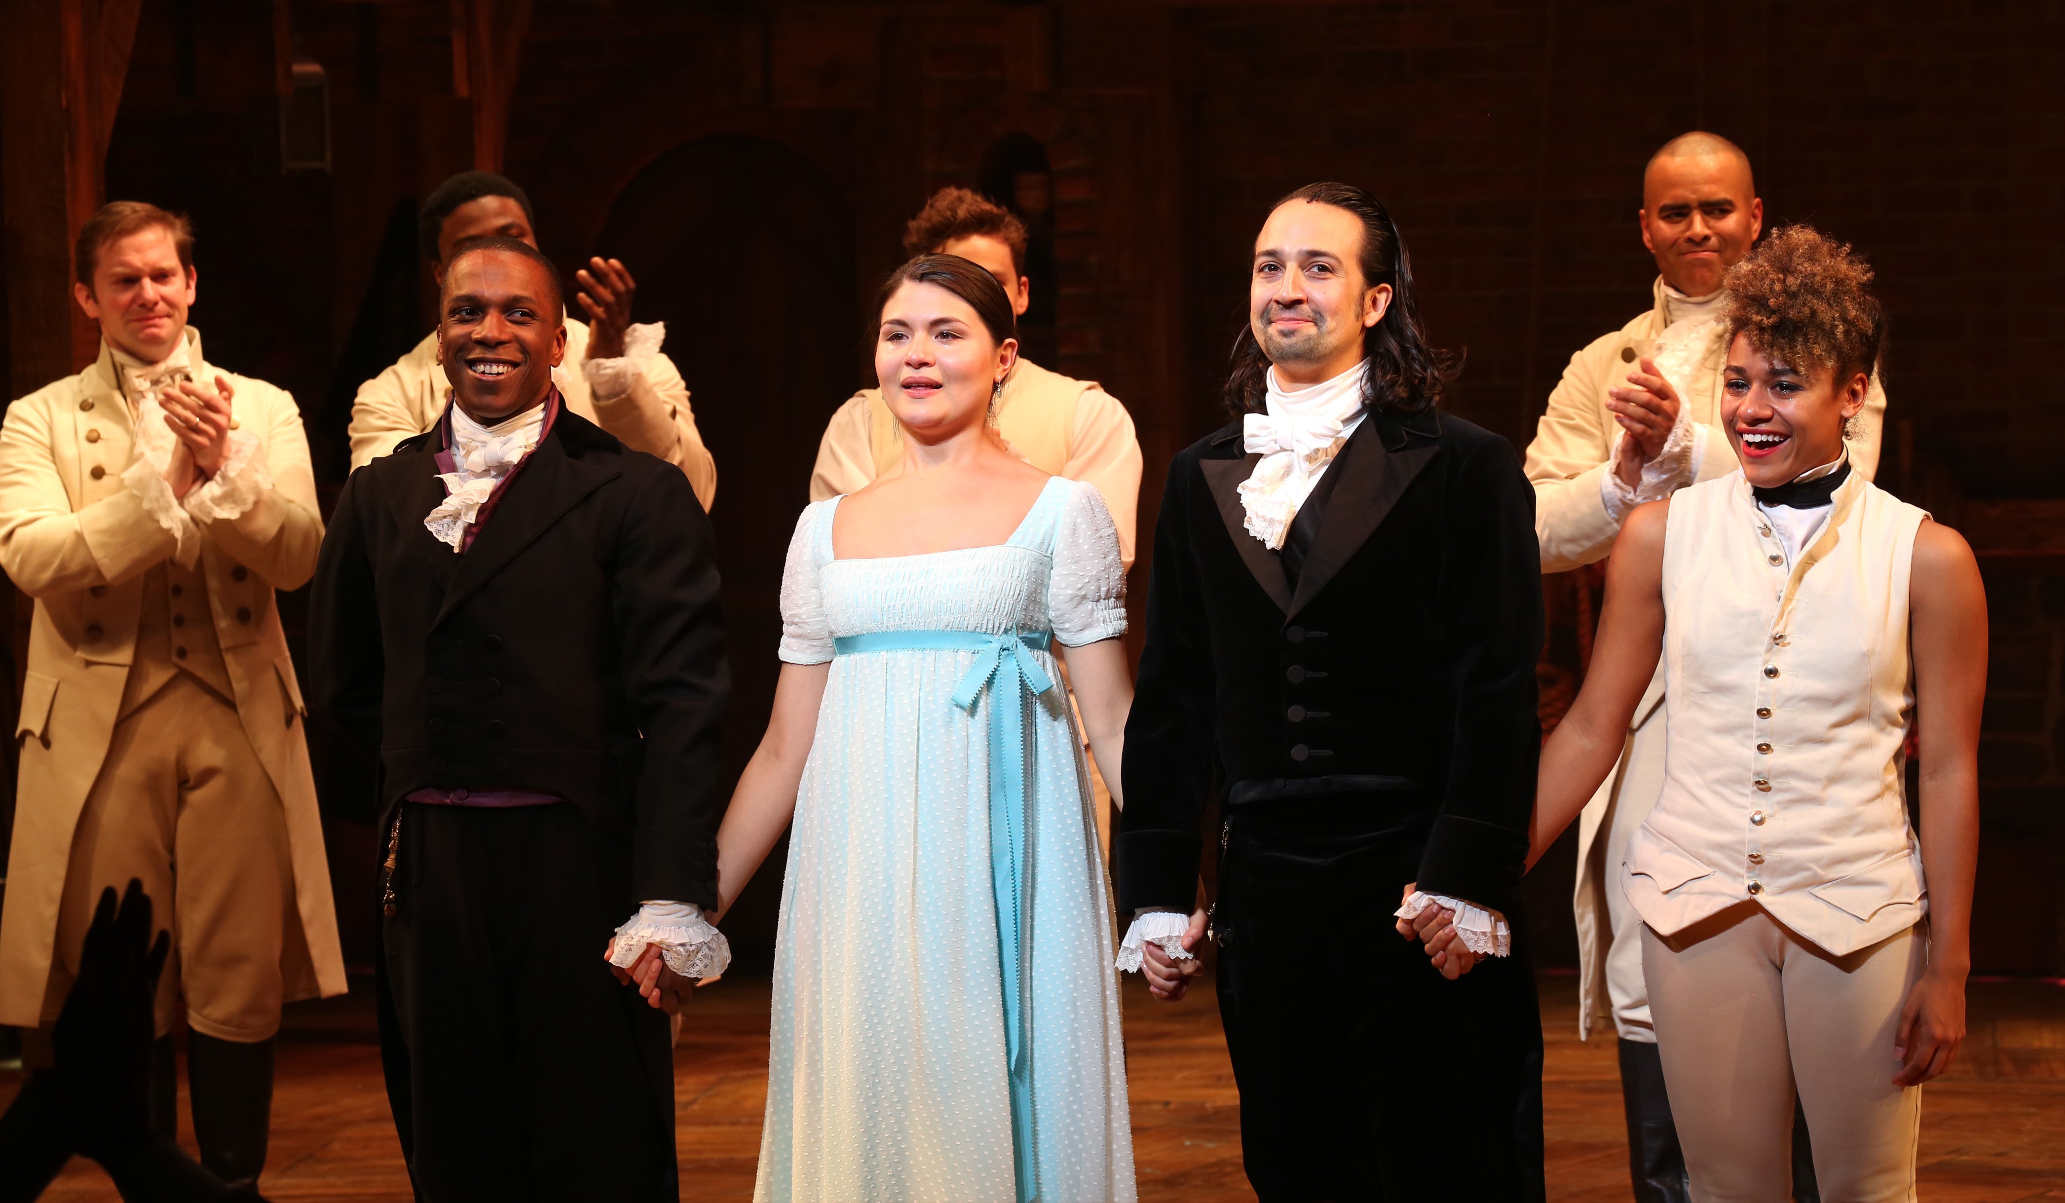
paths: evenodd
<path fill-rule="evenodd" d="M 1270 213 L 1303 200 L 1309 204 L 1332 204 L 1351 213 L 1363 223 L 1363 246 L 1357 266 L 1363 272 L 1363 287 L 1392 287 L 1392 303 L 1375 326 L 1363 330 L 1363 357 L 1369 359 L 1369 378 L 1363 384 L 1363 400 L 1369 409 L 1394 415 L 1415 415 L 1441 402 L 1450 382 L 1462 369 L 1462 357 L 1452 351 L 1437 351 L 1427 340 L 1427 328 L 1419 318 L 1419 297 L 1412 291 L 1412 258 L 1406 254 L 1406 239 L 1398 233 L 1384 202 L 1353 184 L 1307 184 L 1270 206 Z M 1256 343 L 1253 322 L 1241 322 L 1241 332 L 1233 338 L 1233 357 L 1222 392 L 1227 409 L 1235 415 L 1260 413 L 1268 390 L 1270 359 Z"/>

